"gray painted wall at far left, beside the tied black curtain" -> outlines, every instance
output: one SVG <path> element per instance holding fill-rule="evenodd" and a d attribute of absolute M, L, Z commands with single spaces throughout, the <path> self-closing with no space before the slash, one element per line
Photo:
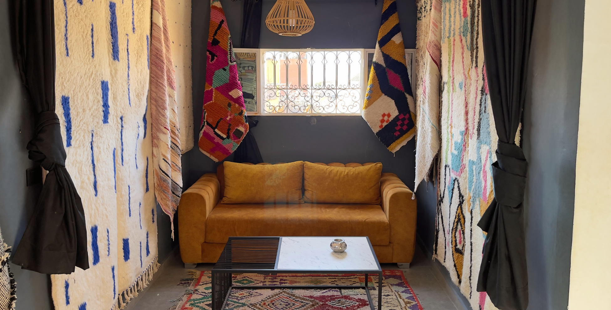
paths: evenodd
<path fill-rule="evenodd" d="M 0 228 L 4 242 L 16 248 L 42 186 L 26 187 L 27 142 L 33 134 L 32 112 L 10 44 L 10 0 L 0 0 Z M 17 282 L 18 309 L 53 309 L 49 276 L 10 264 Z"/>

